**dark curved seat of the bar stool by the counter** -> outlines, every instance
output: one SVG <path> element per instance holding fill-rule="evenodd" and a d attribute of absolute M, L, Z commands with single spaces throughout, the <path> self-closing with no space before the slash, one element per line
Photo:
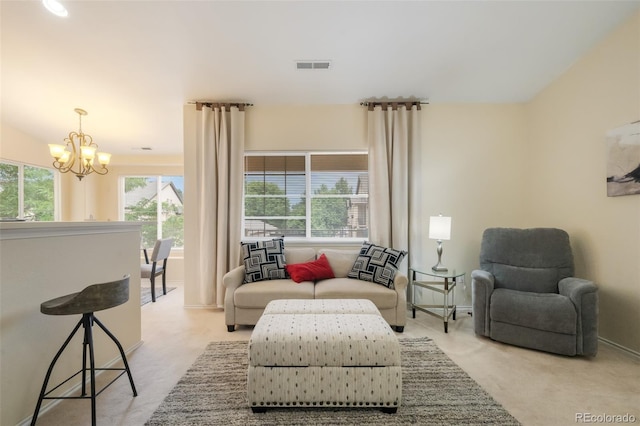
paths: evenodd
<path fill-rule="evenodd" d="M 127 303 L 129 278 L 103 284 L 93 284 L 79 293 L 47 300 L 40 305 L 46 315 L 76 315 L 103 311 Z"/>

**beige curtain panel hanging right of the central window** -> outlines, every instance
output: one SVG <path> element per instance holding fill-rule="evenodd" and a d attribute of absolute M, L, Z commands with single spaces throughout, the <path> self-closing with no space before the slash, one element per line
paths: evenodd
<path fill-rule="evenodd" d="M 410 250 L 412 175 L 420 144 L 420 105 L 369 104 L 369 239 L 374 244 Z M 413 159 L 413 161 L 412 161 Z M 416 170 L 417 172 L 417 170 Z M 412 199 L 413 198 L 413 199 Z M 403 268 L 404 269 L 404 268 Z"/>

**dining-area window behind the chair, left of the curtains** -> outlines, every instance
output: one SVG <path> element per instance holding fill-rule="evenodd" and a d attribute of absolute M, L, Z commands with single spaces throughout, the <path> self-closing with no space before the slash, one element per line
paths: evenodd
<path fill-rule="evenodd" d="M 144 247 L 153 247 L 159 238 L 173 238 L 173 247 L 182 248 L 183 192 L 182 176 L 125 176 L 122 178 L 121 219 L 142 222 Z"/>

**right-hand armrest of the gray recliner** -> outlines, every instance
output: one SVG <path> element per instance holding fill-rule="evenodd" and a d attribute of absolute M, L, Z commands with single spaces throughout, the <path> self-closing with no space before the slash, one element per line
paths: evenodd
<path fill-rule="evenodd" d="M 571 300 L 578 313 L 576 353 L 594 356 L 598 352 L 598 287 L 592 281 L 569 277 L 560 280 L 558 292 Z"/>

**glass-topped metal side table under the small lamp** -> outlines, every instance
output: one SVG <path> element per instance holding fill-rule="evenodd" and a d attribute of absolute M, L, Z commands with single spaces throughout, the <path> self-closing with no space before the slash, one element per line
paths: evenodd
<path fill-rule="evenodd" d="M 411 310 L 413 318 L 416 317 L 416 309 L 427 314 L 442 318 L 444 321 L 444 332 L 449 332 L 449 318 L 456 319 L 455 288 L 459 278 L 465 273 L 454 268 L 444 272 L 436 272 L 431 268 L 409 268 L 409 287 L 411 288 Z M 437 278 L 442 281 L 434 281 Z M 442 294 L 442 304 L 437 305 L 417 305 L 416 290 L 427 289 Z M 421 290 L 422 291 L 422 290 Z M 449 296 L 451 294 L 451 296 Z"/>

